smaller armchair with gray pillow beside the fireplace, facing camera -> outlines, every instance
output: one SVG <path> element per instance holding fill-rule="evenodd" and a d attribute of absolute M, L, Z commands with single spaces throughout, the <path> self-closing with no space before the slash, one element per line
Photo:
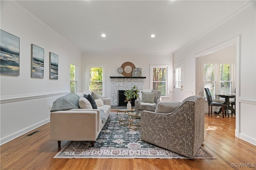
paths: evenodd
<path fill-rule="evenodd" d="M 161 101 L 161 91 L 144 89 L 135 100 L 135 111 L 155 111 L 156 105 Z"/>

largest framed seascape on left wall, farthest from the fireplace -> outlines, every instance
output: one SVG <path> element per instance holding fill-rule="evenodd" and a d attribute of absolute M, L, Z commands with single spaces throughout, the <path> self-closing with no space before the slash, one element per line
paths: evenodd
<path fill-rule="evenodd" d="M 20 38 L 1 30 L 0 73 L 20 75 Z"/>

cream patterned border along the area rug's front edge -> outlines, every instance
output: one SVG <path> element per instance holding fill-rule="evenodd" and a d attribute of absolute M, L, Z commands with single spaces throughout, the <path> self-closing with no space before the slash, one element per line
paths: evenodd
<path fill-rule="evenodd" d="M 110 113 L 110 114 L 116 114 L 116 113 Z M 132 142 L 132 144 L 133 143 L 134 142 Z M 88 145 L 90 145 L 89 141 L 70 141 L 53 158 L 190 159 L 186 156 L 182 156 L 180 154 L 177 154 L 175 152 L 172 152 L 164 148 L 160 148 L 152 144 L 150 144 L 151 148 L 91 147 Z M 194 159 L 216 159 L 216 158 L 203 146 L 200 146 Z"/>

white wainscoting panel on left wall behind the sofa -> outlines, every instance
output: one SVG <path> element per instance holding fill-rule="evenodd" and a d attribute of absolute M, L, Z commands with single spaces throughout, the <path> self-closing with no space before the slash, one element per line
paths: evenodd
<path fill-rule="evenodd" d="M 54 91 L 1 97 L 0 145 L 50 122 L 49 106 L 68 93 Z"/>

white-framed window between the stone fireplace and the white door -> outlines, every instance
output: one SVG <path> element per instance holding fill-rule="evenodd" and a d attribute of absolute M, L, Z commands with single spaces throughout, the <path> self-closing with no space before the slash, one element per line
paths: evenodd
<path fill-rule="evenodd" d="M 168 65 L 150 65 L 150 88 L 161 91 L 161 96 L 167 96 Z"/>

